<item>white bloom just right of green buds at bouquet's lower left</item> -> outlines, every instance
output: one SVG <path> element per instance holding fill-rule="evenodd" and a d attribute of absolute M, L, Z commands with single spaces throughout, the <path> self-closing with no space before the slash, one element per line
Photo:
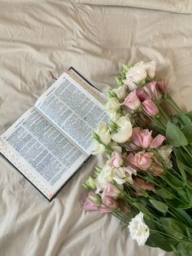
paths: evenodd
<path fill-rule="evenodd" d="M 107 183 L 112 182 L 112 167 L 111 166 L 104 166 L 103 170 L 101 170 L 100 174 L 98 174 L 98 177 L 95 179 L 95 183 L 97 186 L 96 194 L 99 193 L 103 188 L 107 186 Z"/>

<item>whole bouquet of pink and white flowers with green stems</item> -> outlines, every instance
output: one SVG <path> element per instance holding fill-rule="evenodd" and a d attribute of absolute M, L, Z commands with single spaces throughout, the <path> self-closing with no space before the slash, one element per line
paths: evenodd
<path fill-rule="evenodd" d="M 93 131 L 106 156 L 83 187 L 84 210 L 111 213 L 138 245 L 192 252 L 192 112 L 183 113 L 155 62 L 124 65 L 107 90 L 108 123 Z"/>

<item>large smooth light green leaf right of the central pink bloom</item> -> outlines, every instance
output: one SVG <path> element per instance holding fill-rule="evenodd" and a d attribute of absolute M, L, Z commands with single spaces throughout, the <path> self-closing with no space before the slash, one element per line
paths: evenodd
<path fill-rule="evenodd" d="M 186 146 L 188 144 L 187 139 L 185 138 L 185 135 L 182 133 L 182 131 L 177 126 L 173 125 L 170 121 L 168 121 L 166 127 L 166 137 L 168 142 L 176 148 Z"/>

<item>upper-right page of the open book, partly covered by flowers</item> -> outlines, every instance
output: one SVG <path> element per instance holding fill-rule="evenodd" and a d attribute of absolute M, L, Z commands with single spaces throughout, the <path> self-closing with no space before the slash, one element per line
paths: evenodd
<path fill-rule="evenodd" d="M 103 104 L 67 73 L 41 95 L 35 106 L 88 154 L 92 149 L 91 130 L 99 121 L 108 120 Z"/>

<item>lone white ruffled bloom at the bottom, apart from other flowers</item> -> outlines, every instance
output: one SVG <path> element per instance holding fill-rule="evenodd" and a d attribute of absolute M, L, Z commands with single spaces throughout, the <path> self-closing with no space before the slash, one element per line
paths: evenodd
<path fill-rule="evenodd" d="M 133 240 L 137 240 L 139 246 L 145 245 L 150 236 L 150 229 L 143 220 L 143 214 L 140 212 L 132 218 L 129 223 L 129 232 Z"/>

